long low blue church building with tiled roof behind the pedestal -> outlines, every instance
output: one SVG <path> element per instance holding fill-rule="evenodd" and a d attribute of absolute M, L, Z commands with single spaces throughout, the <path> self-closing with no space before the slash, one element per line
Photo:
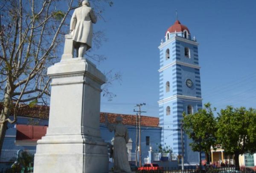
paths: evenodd
<path fill-rule="evenodd" d="M 37 127 L 46 127 L 48 126 L 48 117 L 49 109 L 46 109 L 42 114 L 44 114 L 44 119 L 40 119 L 37 115 L 33 113 L 40 110 L 40 106 L 36 108 L 27 108 L 26 113 L 23 113 L 23 110 L 19 110 L 18 113 L 21 116 L 17 117 L 17 124 L 8 124 L 8 129 L 6 131 L 6 136 L 3 143 L 2 154 L 0 157 L 0 171 L 5 171 L 9 169 L 13 162 L 17 160 L 18 153 L 22 150 L 28 151 L 29 153 L 34 154 L 36 149 L 36 140 L 27 140 L 29 139 L 28 134 L 29 126 Z M 104 114 L 100 115 L 100 133 L 102 139 L 105 142 L 112 143 L 114 132 L 110 132 L 104 124 Z M 136 154 L 136 137 L 137 137 L 137 127 L 136 127 L 136 116 L 134 115 L 124 115 L 116 113 L 107 113 L 111 117 L 110 123 L 114 123 L 116 116 L 122 116 L 124 119 L 124 124 L 128 128 L 129 133 L 129 142 L 128 142 L 128 153 L 129 161 L 135 163 L 135 154 Z M 158 144 L 161 141 L 161 128 L 158 126 L 159 120 L 156 117 L 141 116 L 142 126 L 141 126 L 141 158 L 142 164 L 144 164 L 144 159 L 148 157 L 150 147 L 157 153 Z M 19 131 L 18 126 L 23 125 L 23 131 Z M 27 127 L 24 127 L 27 126 Z M 36 131 L 33 131 L 33 135 L 36 135 Z M 21 136 L 20 136 L 21 134 Z M 42 134 L 42 136 L 44 136 Z M 37 135 L 38 136 L 38 135 Z M 21 139 L 20 139 L 21 137 Z M 32 138 L 33 139 L 33 138 Z M 112 161 L 112 162 L 111 162 Z M 152 160 L 153 161 L 153 160 Z M 110 159 L 109 168 L 113 167 L 113 160 Z"/>

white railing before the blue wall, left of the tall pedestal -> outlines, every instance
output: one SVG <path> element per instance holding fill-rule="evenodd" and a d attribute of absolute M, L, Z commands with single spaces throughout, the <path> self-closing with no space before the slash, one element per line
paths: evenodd
<path fill-rule="evenodd" d="M 3 149 L 1 153 L 0 162 L 15 162 L 18 156 L 18 151 L 26 151 L 30 154 L 35 154 L 35 150 L 10 150 L 10 149 Z"/>

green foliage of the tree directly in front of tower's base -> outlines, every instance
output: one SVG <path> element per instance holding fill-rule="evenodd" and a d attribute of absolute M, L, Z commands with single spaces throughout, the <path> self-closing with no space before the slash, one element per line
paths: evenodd
<path fill-rule="evenodd" d="M 216 144 L 216 119 L 214 117 L 211 104 L 204 104 L 204 109 L 198 110 L 197 113 L 186 115 L 183 112 L 183 129 L 193 142 L 189 145 L 193 151 L 201 150 L 208 153 L 211 146 Z M 194 134 L 193 134 L 194 133 Z"/>

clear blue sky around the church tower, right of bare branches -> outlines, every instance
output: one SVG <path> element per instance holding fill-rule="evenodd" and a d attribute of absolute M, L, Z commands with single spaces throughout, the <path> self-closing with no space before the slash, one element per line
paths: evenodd
<path fill-rule="evenodd" d="M 199 43 L 203 103 L 217 111 L 226 105 L 256 108 L 255 0 L 116 0 L 105 8 L 106 22 L 94 25 L 108 38 L 97 50 L 108 59 L 97 67 L 122 74 L 121 85 L 109 88 L 116 97 L 102 97 L 101 111 L 134 114 L 134 106 L 145 102 L 143 115 L 158 116 L 157 47 L 175 10 Z"/>

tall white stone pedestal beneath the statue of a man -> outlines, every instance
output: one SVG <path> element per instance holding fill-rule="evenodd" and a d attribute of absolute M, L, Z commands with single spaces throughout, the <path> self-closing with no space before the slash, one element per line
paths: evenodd
<path fill-rule="evenodd" d="M 70 57 L 47 74 L 52 79 L 49 127 L 38 140 L 34 173 L 107 173 L 108 150 L 99 130 L 105 76 L 88 60 Z"/>

